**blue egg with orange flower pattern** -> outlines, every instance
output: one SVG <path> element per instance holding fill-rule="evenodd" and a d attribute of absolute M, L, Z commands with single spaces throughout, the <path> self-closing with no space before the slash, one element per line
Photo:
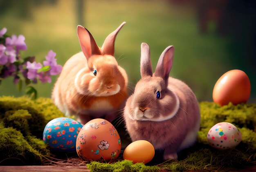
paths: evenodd
<path fill-rule="evenodd" d="M 43 141 L 54 151 L 76 151 L 76 137 L 83 125 L 74 119 L 56 118 L 49 121 L 43 131 Z"/>

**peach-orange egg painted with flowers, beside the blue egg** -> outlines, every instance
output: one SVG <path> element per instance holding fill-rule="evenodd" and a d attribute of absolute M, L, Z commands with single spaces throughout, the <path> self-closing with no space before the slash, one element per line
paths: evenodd
<path fill-rule="evenodd" d="M 82 159 L 115 159 L 121 151 L 121 140 L 115 127 L 105 119 L 86 123 L 76 139 L 76 152 Z"/>

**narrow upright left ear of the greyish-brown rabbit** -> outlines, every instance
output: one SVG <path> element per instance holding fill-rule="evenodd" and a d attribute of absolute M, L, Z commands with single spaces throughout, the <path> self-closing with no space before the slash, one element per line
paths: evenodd
<path fill-rule="evenodd" d="M 141 44 L 141 57 L 140 57 L 140 75 L 141 78 L 145 76 L 152 77 L 152 65 L 150 61 L 150 50 L 146 43 Z"/>

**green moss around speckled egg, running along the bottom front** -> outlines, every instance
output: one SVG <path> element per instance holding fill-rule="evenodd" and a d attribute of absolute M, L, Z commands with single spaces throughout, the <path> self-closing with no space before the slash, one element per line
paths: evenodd
<path fill-rule="evenodd" d="M 130 161 L 100 163 L 92 161 L 88 169 L 92 171 L 156 171 L 156 170 L 218 170 L 229 171 L 243 168 L 256 162 L 256 104 L 228 104 L 220 107 L 212 102 L 201 102 L 201 128 L 198 141 L 192 148 L 180 152 L 180 159 L 169 160 L 155 166 L 133 165 Z M 229 122 L 238 126 L 242 142 L 231 150 L 216 150 L 207 143 L 207 134 L 219 122 Z M 120 165 L 123 165 L 122 168 Z M 100 169 L 100 170 L 99 170 Z"/>

